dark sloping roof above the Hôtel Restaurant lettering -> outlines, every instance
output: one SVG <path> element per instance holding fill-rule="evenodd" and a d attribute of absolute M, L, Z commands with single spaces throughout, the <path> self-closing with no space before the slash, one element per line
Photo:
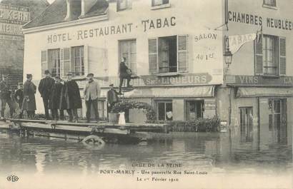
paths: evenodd
<path fill-rule="evenodd" d="M 106 9 L 108 9 L 109 3 L 106 0 L 98 0 L 96 4 L 91 7 L 91 9 L 84 16 L 74 16 L 70 21 L 83 19 L 90 16 L 99 16 L 105 14 Z M 30 21 L 28 24 L 24 25 L 24 29 L 34 28 L 38 26 L 46 26 L 50 24 L 57 24 L 65 21 L 67 13 L 66 0 L 55 0 L 46 10 L 35 19 Z"/>

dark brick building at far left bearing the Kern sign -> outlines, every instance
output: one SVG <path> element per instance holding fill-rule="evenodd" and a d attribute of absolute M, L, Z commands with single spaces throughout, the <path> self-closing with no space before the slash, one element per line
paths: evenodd
<path fill-rule="evenodd" d="M 24 34 L 22 25 L 39 16 L 49 6 L 46 0 L 0 1 L 0 80 L 9 75 L 13 91 L 23 81 Z"/>

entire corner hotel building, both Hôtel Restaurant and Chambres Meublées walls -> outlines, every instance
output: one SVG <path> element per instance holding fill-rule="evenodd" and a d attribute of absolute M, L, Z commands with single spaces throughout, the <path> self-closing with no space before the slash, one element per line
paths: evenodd
<path fill-rule="evenodd" d="M 289 0 L 56 0 L 24 26 L 24 73 L 38 84 L 46 69 L 74 72 L 81 90 L 94 73 L 105 118 L 106 91 L 119 86 L 125 57 L 139 78 L 124 98 L 152 104 L 158 120 L 219 116 L 243 141 L 290 142 L 292 7 Z M 228 67 L 227 44 L 242 42 Z M 140 111 L 130 114 L 130 121 L 145 120 Z"/>

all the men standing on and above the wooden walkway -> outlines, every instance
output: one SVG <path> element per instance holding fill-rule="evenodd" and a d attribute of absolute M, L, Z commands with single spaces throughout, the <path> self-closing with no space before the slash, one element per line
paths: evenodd
<path fill-rule="evenodd" d="M 119 92 L 114 90 L 114 84 L 110 84 L 110 90 L 107 92 L 107 105 L 108 112 L 111 111 L 114 104 L 119 101 L 118 95 L 121 95 L 121 87 L 124 80 L 127 82 L 127 87 L 131 87 L 129 84 L 131 81 L 131 70 L 126 66 L 126 58 L 123 57 L 119 65 Z M 61 78 L 56 76 L 51 78 L 49 70 L 44 71 L 45 77 L 41 79 L 38 87 L 38 91 L 43 98 L 44 111 L 47 120 L 64 120 L 64 110 L 69 115 L 69 121 L 75 122 L 78 120 L 77 109 L 82 108 L 81 95 L 79 92 L 79 86 L 72 79 L 72 73 L 67 73 L 67 80 L 63 83 Z M 4 118 L 4 110 L 6 104 L 10 108 L 10 116 L 15 112 L 13 108 L 13 99 L 11 98 L 11 91 L 9 91 L 9 85 L 6 81 L 8 76 L 4 75 L 0 82 L 0 98 L 1 98 L 1 117 Z M 34 112 L 36 111 L 36 86 L 31 82 L 32 75 L 26 75 L 26 81 L 24 85 L 19 85 L 18 90 L 15 92 L 14 99 L 19 104 L 20 113 L 19 118 L 22 118 L 23 112 L 26 111 L 29 118 L 34 118 Z M 100 88 L 99 84 L 94 81 L 94 74 L 89 73 L 87 75 L 86 85 L 84 87 L 84 100 L 86 104 L 86 121 L 91 120 L 91 107 L 94 109 L 95 121 L 99 122 L 98 111 L 98 98 Z M 51 116 L 49 115 L 51 110 Z"/>

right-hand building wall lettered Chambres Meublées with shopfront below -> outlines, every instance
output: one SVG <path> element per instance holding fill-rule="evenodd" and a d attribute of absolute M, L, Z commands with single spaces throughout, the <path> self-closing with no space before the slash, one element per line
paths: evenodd
<path fill-rule="evenodd" d="M 242 141 L 292 143 L 292 1 L 229 1 L 229 44 L 245 43 L 217 90 L 222 120 Z M 249 34 L 256 34 L 249 41 Z M 232 36 L 232 37 L 231 37 Z"/>

